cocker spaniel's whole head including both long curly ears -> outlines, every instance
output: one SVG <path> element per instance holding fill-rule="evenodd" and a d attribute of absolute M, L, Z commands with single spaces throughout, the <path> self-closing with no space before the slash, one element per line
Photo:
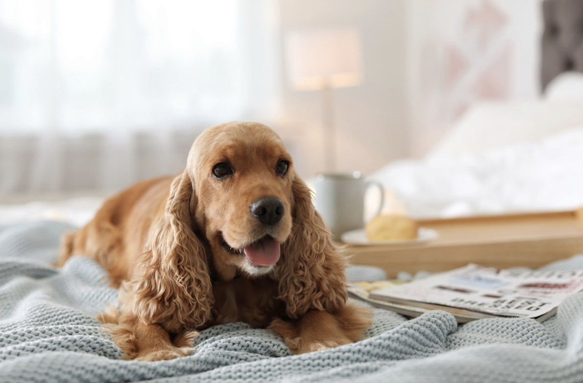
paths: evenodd
<path fill-rule="evenodd" d="M 212 272 L 229 280 L 238 270 L 275 270 L 291 318 L 338 310 L 347 298 L 345 259 L 310 189 L 279 136 L 253 122 L 216 125 L 196 139 L 144 254 L 134 312 L 169 331 L 208 321 Z"/>

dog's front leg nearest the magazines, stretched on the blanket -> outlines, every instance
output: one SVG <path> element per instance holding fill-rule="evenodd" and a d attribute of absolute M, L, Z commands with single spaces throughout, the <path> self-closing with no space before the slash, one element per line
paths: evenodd
<path fill-rule="evenodd" d="M 310 310 L 300 319 L 275 319 L 269 325 L 291 352 L 303 354 L 330 349 L 364 339 L 364 333 L 373 324 L 372 312 L 355 303 L 347 303 L 339 312 Z"/>

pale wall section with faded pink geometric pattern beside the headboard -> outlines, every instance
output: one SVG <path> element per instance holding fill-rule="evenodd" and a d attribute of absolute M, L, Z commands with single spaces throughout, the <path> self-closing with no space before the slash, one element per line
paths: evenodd
<path fill-rule="evenodd" d="M 429 152 L 470 105 L 539 96 L 542 0 L 410 0 L 410 154 Z"/>

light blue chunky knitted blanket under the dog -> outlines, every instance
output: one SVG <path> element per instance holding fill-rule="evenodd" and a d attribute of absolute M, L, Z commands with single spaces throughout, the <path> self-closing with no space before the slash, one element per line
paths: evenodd
<path fill-rule="evenodd" d="M 271 331 L 237 323 L 203 331 L 188 357 L 120 360 L 94 319 L 117 299 L 103 269 L 83 257 L 49 266 L 68 229 L 0 227 L 1 382 L 583 382 L 583 294 L 544 324 L 375 309 L 367 339 L 336 349 L 293 356 Z M 583 256 L 546 269 L 583 269 Z"/>

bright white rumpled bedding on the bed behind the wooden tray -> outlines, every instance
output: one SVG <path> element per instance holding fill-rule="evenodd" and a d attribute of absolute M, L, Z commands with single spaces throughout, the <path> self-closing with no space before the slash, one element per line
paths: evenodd
<path fill-rule="evenodd" d="M 397 161 L 371 178 L 417 218 L 575 209 L 583 206 L 583 125 L 479 154 Z"/>

